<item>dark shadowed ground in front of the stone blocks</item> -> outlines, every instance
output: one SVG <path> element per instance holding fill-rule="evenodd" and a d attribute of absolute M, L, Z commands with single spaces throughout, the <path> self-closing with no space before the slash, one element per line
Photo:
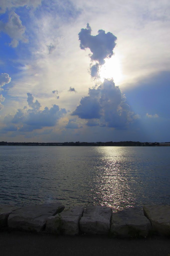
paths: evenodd
<path fill-rule="evenodd" d="M 166 237 L 115 239 L 106 236 L 54 236 L 45 233 L 0 232 L 2 256 L 50 255 L 170 255 Z"/>

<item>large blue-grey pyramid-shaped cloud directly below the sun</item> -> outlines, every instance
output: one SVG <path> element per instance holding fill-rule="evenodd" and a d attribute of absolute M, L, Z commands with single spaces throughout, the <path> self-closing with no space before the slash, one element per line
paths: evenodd
<path fill-rule="evenodd" d="M 136 119 L 126 103 L 126 97 L 113 79 L 105 79 L 98 88 L 89 88 L 89 96 L 83 97 L 71 115 L 87 119 L 88 126 L 107 126 L 124 129 Z M 91 119 L 91 121 L 90 121 Z"/>

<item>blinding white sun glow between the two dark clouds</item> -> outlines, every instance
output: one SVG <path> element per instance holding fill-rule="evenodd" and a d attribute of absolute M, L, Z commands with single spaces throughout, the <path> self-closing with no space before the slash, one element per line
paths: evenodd
<path fill-rule="evenodd" d="M 116 85 L 119 85 L 124 80 L 121 57 L 118 52 L 116 52 L 111 58 L 105 59 L 105 64 L 101 66 L 99 75 L 102 82 L 105 78 L 113 78 Z"/>

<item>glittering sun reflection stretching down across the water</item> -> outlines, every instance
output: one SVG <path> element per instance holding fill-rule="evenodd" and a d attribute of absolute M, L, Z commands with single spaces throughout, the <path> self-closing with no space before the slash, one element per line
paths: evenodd
<path fill-rule="evenodd" d="M 114 157 L 113 147 L 104 147 L 102 151 L 99 147 L 96 150 L 101 154 L 102 164 L 98 166 L 92 181 L 92 193 L 96 194 L 95 201 L 100 205 L 112 207 L 114 211 L 125 206 L 133 206 L 135 198 L 129 184 L 131 175 L 128 174 L 126 166 L 123 166 L 124 160 L 121 161 L 119 151 L 122 149 L 114 147 Z"/>

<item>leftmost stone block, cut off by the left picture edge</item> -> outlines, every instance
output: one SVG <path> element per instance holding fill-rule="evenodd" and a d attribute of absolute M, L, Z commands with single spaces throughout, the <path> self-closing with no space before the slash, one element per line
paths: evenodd
<path fill-rule="evenodd" d="M 20 207 L 14 205 L 0 205 L 0 228 L 7 226 L 7 219 L 12 211 L 19 209 Z"/>

